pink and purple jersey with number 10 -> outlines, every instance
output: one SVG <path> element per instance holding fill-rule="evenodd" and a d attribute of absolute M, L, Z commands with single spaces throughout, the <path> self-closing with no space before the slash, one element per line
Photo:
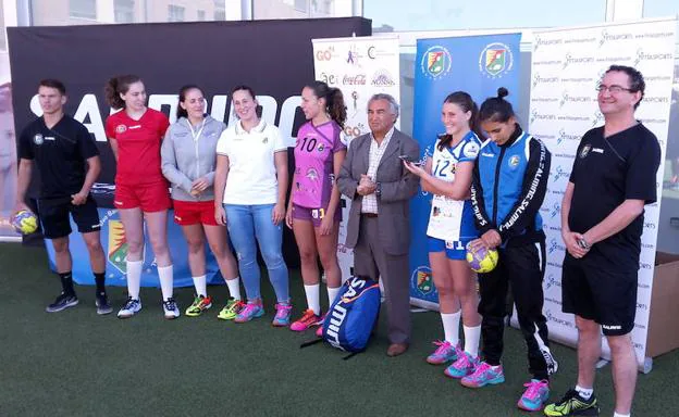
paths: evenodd
<path fill-rule="evenodd" d="M 332 187 L 334 153 L 346 149 L 340 139 L 342 128 L 334 121 L 313 126 L 305 123 L 295 146 L 293 202 L 308 208 L 328 207 Z"/>

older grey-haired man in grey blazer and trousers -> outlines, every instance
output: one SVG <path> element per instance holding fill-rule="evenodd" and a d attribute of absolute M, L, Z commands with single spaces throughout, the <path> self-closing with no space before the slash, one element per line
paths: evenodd
<path fill-rule="evenodd" d="M 409 200 L 418 179 L 399 159 L 420 156 L 412 138 L 394 124 L 398 104 L 390 94 L 368 101 L 370 134 L 349 144 L 337 178 L 340 191 L 351 199 L 345 244 L 354 248 L 356 275 L 382 277 L 388 319 L 388 356 L 398 356 L 410 341 Z"/>

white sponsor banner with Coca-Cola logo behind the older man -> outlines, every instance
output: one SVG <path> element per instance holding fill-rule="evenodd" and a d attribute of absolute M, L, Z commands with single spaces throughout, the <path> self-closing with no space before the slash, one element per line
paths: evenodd
<path fill-rule="evenodd" d="M 398 38 L 353 37 L 313 39 L 313 66 L 316 79 L 342 90 L 347 106 L 344 140 L 370 131 L 368 127 L 368 100 L 378 92 L 391 94 L 400 102 L 400 73 Z M 396 122 L 398 128 L 398 121 Z M 343 280 L 351 275 L 354 251 L 344 245 L 349 202 L 342 198 L 343 220 L 340 225 L 337 257 Z"/>

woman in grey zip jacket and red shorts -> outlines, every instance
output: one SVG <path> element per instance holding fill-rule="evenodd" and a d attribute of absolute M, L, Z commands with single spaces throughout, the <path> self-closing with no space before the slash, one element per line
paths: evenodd
<path fill-rule="evenodd" d="M 174 222 L 182 226 L 188 243 L 188 266 L 196 287 L 196 299 L 186 309 L 189 317 L 199 316 L 212 306 L 206 282 L 206 237 L 231 293 L 231 300 L 218 317 L 233 318 L 243 305 L 226 228 L 214 219 L 217 141 L 225 128 L 223 123 L 205 114 L 200 88 L 182 87 L 177 121 L 165 134 L 161 156 L 162 173 L 172 184 Z"/>

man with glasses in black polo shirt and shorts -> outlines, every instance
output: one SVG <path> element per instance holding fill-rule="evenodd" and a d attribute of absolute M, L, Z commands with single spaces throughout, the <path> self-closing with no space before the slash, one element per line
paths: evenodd
<path fill-rule="evenodd" d="M 561 205 L 565 313 L 576 314 L 578 382 L 547 416 L 597 416 L 593 394 L 603 330 L 613 357 L 615 417 L 630 415 L 637 383 L 634 328 L 644 205 L 656 201 L 661 148 L 634 119 L 645 83 L 613 65 L 598 86 L 604 126 L 582 137 Z"/>

